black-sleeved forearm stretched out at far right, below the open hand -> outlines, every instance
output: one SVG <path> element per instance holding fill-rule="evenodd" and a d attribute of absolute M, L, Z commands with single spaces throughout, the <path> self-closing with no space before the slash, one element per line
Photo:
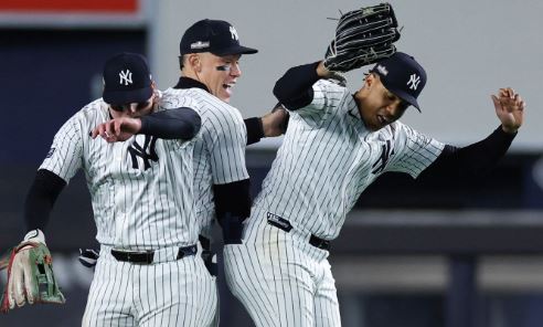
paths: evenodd
<path fill-rule="evenodd" d="M 486 173 L 505 155 L 517 134 L 498 127 L 483 140 L 464 148 L 447 146 L 425 175 L 447 173 L 451 177 L 471 177 Z"/>

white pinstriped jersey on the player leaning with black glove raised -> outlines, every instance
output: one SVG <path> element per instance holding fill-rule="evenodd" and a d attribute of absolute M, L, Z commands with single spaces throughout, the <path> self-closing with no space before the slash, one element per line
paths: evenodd
<path fill-rule="evenodd" d="M 400 122 L 368 130 L 349 89 L 336 83 L 320 80 L 313 92 L 310 105 L 290 112 L 283 146 L 254 209 L 331 240 L 379 176 L 401 171 L 416 178 L 445 145 Z"/>

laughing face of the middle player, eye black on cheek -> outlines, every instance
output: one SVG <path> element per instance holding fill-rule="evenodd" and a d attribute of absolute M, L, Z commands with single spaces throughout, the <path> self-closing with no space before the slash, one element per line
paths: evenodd
<path fill-rule="evenodd" d="M 207 86 L 211 94 L 228 103 L 232 88 L 242 75 L 241 56 L 241 54 L 217 56 L 209 52 L 190 54 L 190 72 L 187 76 L 200 81 Z"/>

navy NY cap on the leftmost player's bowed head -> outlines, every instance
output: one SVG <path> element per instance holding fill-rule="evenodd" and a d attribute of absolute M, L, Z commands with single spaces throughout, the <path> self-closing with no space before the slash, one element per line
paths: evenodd
<path fill-rule="evenodd" d="M 142 103 L 152 95 L 152 77 L 145 56 L 124 52 L 104 65 L 103 98 L 108 104 Z"/>

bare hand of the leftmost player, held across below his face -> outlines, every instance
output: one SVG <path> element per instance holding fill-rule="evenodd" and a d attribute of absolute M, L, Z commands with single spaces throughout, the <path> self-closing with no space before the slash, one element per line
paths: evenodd
<path fill-rule="evenodd" d="M 141 129 L 141 119 L 121 117 L 96 126 L 91 136 L 102 136 L 107 143 L 125 141 Z"/>

